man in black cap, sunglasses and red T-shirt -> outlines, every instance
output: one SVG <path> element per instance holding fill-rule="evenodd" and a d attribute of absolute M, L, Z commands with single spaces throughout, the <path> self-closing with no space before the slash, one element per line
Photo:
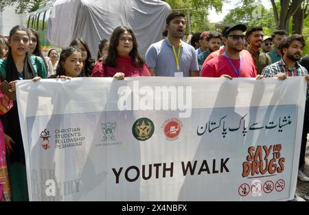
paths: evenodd
<path fill-rule="evenodd" d="M 256 77 L 256 69 L 248 58 L 242 58 L 245 25 L 231 25 L 222 32 L 225 51 L 209 60 L 202 68 L 201 77 Z"/>

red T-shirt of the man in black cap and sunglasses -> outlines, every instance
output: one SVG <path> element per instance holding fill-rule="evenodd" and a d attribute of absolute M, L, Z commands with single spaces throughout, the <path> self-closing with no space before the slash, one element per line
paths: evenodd
<path fill-rule="evenodd" d="M 240 60 L 231 59 L 231 62 L 236 69 L 239 68 Z M 233 66 L 227 60 L 225 55 L 218 55 L 218 58 L 213 58 L 205 64 L 202 68 L 201 77 L 220 77 L 221 75 L 229 75 L 231 77 L 238 77 L 233 69 Z M 253 62 L 247 58 L 242 58 L 242 65 L 240 67 L 240 77 L 256 77 L 257 71 Z"/>

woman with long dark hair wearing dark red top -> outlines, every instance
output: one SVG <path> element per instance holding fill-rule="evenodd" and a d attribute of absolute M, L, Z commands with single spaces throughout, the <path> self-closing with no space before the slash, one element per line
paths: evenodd
<path fill-rule="evenodd" d="M 111 36 L 108 55 L 93 67 L 92 77 L 151 76 L 148 66 L 137 51 L 137 40 L 129 27 L 116 27 Z"/>

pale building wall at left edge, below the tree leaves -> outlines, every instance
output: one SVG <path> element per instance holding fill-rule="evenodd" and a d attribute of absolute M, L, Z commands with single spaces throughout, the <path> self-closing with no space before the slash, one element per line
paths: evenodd
<path fill-rule="evenodd" d="M 15 13 L 16 5 L 0 11 L 0 34 L 8 36 L 15 25 L 25 25 L 25 15 Z"/>

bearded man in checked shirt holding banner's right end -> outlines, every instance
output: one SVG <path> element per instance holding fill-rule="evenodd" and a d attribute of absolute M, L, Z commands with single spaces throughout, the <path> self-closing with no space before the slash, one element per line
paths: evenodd
<path fill-rule="evenodd" d="M 304 47 L 305 47 L 304 37 L 299 34 L 293 34 L 288 38 L 284 38 L 279 46 L 279 49 L 283 56 L 282 60 L 279 60 L 275 64 L 266 66 L 262 71 L 262 75 L 264 75 L 264 77 L 278 77 L 279 79 L 282 80 L 286 79 L 286 77 L 291 76 L 305 76 L 309 84 L 309 75 L 307 69 L 298 63 L 303 53 Z M 309 100 L 309 91 L 307 90 L 304 129 L 301 140 L 301 154 L 299 157 L 299 171 L 298 171 L 298 179 L 306 182 L 309 182 L 309 177 L 304 174 L 302 169 L 304 168 L 305 164 L 306 143 L 307 143 L 307 134 L 309 125 L 308 100 Z"/>

